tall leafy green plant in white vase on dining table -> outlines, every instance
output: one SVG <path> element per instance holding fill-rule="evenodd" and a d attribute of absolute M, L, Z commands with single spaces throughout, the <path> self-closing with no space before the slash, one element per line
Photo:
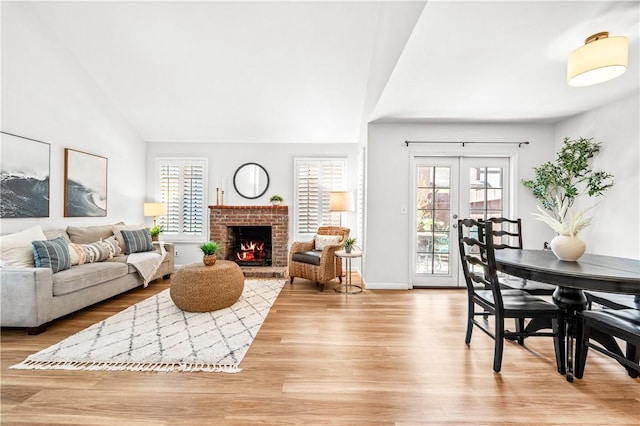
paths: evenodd
<path fill-rule="evenodd" d="M 534 167 L 535 178 L 522 181 L 541 204 L 534 216 L 558 233 L 550 245 L 560 260 L 577 260 L 586 250 L 577 235 L 591 224 L 585 213 L 593 206 L 575 211 L 575 201 L 582 196 L 599 197 L 613 186 L 613 175 L 590 166 L 600 146 L 593 138 L 564 138 L 556 160 Z"/>

